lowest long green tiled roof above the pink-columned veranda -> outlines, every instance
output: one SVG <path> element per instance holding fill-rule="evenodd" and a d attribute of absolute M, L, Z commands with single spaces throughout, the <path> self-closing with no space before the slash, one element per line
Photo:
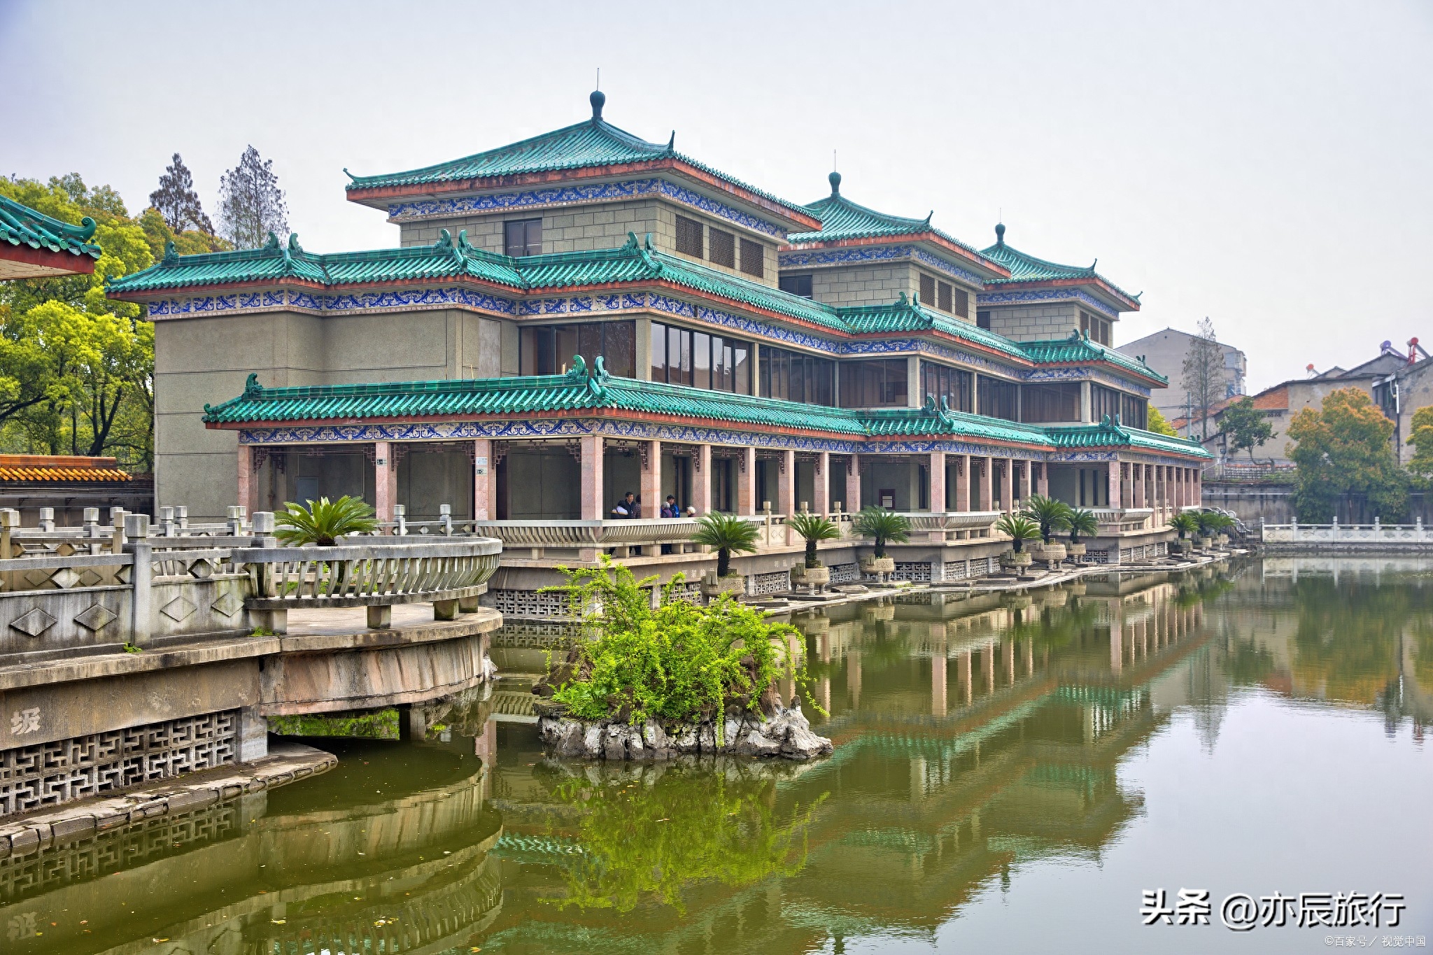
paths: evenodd
<path fill-rule="evenodd" d="M 1135 447 L 1208 457 L 1198 442 L 1149 431 L 1099 425 L 1032 425 L 936 408 L 850 409 L 735 395 L 635 378 L 589 375 L 579 364 L 565 375 L 459 381 L 373 382 L 261 388 L 249 375 L 244 394 L 205 405 L 209 424 L 282 424 L 364 418 L 520 415 L 533 412 L 631 411 L 706 418 L 751 427 L 825 431 L 853 438 L 947 437 L 1053 448 Z"/>

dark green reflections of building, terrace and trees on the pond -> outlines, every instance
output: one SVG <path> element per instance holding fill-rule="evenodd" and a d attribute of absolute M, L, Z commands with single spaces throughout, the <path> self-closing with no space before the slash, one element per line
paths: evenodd
<path fill-rule="evenodd" d="M 813 722 L 837 745 L 814 765 L 549 760 L 526 684 L 504 682 L 421 745 L 341 743 L 310 783 L 0 861 L 0 931 L 7 952 L 221 955 L 929 934 L 1023 862 L 1099 861 L 1142 812 L 1121 762 L 1181 709 L 1212 747 L 1231 686 L 1420 733 L 1422 584 L 1326 571 L 1270 560 L 798 617 L 828 713 Z M 557 640 L 513 629 L 494 654 L 512 674 Z"/>

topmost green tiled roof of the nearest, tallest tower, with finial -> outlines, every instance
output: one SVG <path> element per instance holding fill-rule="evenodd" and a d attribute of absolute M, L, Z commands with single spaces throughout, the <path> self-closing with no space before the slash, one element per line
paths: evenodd
<path fill-rule="evenodd" d="M 593 94 L 598 96 L 598 94 Z M 593 100 L 593 117 L 572 126 L 555 129 L 522 142 L 499 146 L 486 152 L 453 159 L 449 162 L 408 169 L 406 172 L 380 173 L 374 176 L 353 176 L 348 189 L 378 189 L 385 186 L 421 186 L 438 182 L 457 182 L 463 179 L 489 179 L 493 176 L 520 176 L 524 173 L 562 172 L 566 169 L 583 169 L 589 166 L 613 166 L 632 162 L 648 162 L 652 159 L 676 159 L 689 166 L 695 166 L 718 179 L 722 179 L 752 195 L 761 196 L 792 212 L 805 212 L 794 202 L 787 202 L 751 186 L 727 173 L 712 169 L 689 156 L 676 152 L 676 133 L 668 143 L 649 143 L 639 136 L 618 129 L 602 119 L 602 103 Z"/>

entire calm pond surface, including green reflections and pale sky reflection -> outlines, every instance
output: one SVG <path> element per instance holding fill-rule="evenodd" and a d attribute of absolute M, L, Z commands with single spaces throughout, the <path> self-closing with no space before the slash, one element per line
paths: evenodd
<path fill-rule="evenodd" d="M 810 766 L 560 765 L 504 686 L 447 739 L 327 740 L 317 780 L 0 861 L 0 949 L 1416 946 L 1430 609 L 1430 563 L 1313 558 L 856 607 L 801 623 L 837 745 Z M 1208 891 L 1211 924 L 1145 926 L 1159 889 Z M 1401 893 L 1400 925 L 1221 924 L 1232 893 L 1351 892 L 1384 925 Z"/>

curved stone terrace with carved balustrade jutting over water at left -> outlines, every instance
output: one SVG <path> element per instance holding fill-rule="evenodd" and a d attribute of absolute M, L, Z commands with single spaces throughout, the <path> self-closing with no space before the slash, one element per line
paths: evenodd
<path fill-rule="evenodd" d="M 492 676 L 494 538 L 17 518 L 0 511 L 0 856 L 33 813 L 264 763 L 269 716 L 424 712 Z"/>

